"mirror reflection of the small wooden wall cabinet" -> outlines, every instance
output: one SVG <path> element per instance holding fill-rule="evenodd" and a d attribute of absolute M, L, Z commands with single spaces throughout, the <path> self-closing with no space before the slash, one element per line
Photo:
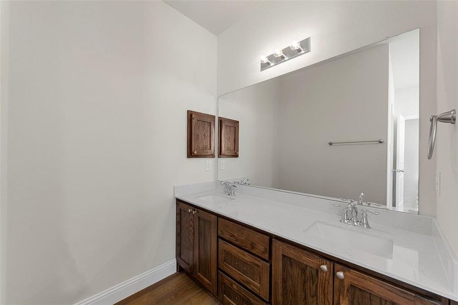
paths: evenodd
<path fill-rule="evenodd" d="M 219 117 L 219 149 L 220 158 L 238 158 L 238 121 Z"/>

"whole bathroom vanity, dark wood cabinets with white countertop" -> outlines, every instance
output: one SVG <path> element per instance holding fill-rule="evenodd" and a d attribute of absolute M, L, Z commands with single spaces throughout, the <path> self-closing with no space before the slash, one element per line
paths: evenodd
<path fill-rule="evenodd" d="M 312 205 L 219 188 L 176 198 L 177 265 L 223 304 L 449 304 L 453 296 L 431 236 L 351 227 Z"/>

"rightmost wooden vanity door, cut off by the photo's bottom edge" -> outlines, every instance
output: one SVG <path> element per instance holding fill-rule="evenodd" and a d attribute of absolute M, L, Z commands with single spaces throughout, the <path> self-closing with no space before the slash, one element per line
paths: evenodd
<path fill-rule="evenodd" d="M 338 274 L 338 272 L 342 272 Z M 334 265 L 334 305 L 439 305 L 359 271 Z"/>

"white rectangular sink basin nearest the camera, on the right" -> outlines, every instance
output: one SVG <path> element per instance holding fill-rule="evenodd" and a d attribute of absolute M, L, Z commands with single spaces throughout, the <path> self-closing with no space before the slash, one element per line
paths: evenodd
<path fill-rule="evenodd" d="M 371 253 L 380 257 L 393 258 L 393 240 L 357 227 L 344 227 L 324 222 L 314 222 L 302 232 L 333 245 Z M 372 230 L 372 229 L 369 229 Z"/>

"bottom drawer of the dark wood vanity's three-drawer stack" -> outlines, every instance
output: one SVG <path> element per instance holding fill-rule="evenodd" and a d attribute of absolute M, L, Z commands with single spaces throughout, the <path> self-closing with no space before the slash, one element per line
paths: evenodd
<path fill-rule="evenodd" d="M 266 305 L 256 295 L 238 285 L 223 272 L 218 272 L 218 299 L 223 305 Z"/>

